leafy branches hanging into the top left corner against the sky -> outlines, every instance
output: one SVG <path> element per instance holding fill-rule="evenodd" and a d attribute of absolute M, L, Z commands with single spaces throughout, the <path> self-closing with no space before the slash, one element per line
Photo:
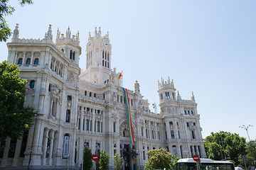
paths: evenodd
<path fill-rule="evenodd" d="M 25 4 L 33 4 L 32 0 L 18 0 L 21 6 Z M 9 0 L 0 0 L 0 41 L 5 41 L 11 36 L 11 29 L 9 28 L 4 16 L 11 16 L 15 9 L 8 5 Z"/>

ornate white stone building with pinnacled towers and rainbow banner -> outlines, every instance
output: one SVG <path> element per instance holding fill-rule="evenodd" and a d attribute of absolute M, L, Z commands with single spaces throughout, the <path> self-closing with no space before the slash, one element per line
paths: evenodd
<path fill-rule="evenodd" d="M 45 38 L 18 38 L 14 30 L 8 60 L 18 64 L 28 79 L 26 104 L 38 111 L 34 126 L 20 140 L 1 142 L 1 167 L 28 164 L 36 169 L 78 168 L 85 146 L 124 157 L 124 169 L 142 169 L 150 149 L 166 148 L 178 157 L 206 157 L 197 103 L 183 100 L 169 78 L 159 82 L 160 113 L 149 111 L 139 83 L 128 90 L 135 144 L 129 142 L 122 79 L 112 69 L 109 35 L 95 28 L 86 45 L 86 69 L 81 71 L 79 33 L 58 30 L 55 43 L 51 26 Z"/>

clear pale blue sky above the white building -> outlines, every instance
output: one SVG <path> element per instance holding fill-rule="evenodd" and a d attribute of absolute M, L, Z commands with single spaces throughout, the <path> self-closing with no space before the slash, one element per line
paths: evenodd
<path fill-rule="evenodd" d="M 53 25 L 80 31 L 80 67 L 85 69 L 85 44 L 95 26 L 110 32 L 112 67 L 124 72 L 124 87 L 138 80 L 144 98 L 159 103 L 157 81 L 174 79 L 183 99 L 198 103 L 203 137 L 220 130 L 256 139 L 256 1 L 68 1 L 34 0 L 16 8 L 6 20 L 20 38 L 43 38 Z M 0 60 L 8 50 L 0 42 Z M 153 108 L 151 108 L 153 111 Z"/>

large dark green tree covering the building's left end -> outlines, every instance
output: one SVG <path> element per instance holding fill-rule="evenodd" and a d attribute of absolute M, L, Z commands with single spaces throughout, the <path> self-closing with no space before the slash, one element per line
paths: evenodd
<path fill-rule="evenodd" d="M 7 61 L 0 63 L 0 140 L 11 137 L 16 140 L 23 131 L 31 128 L 36 114 L 33 108 L 24 106 L 26 79 L 21 79 L 18 67 Z"/>

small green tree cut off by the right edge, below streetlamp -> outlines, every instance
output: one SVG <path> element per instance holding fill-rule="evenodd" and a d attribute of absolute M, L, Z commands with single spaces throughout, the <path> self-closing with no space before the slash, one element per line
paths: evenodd
<path fill-rule="evenodd" d="M 256 166 L 256 140 L 251 140 L 246 144 L 247 167 Z"/>

